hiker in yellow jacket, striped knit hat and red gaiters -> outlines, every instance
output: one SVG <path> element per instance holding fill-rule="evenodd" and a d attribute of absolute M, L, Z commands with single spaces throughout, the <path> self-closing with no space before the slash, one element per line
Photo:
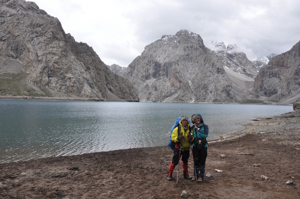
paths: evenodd
<path fill-rule="evenodd" d="M 173 130 L 171 135 L 171 139 L 175 144 L 175 150 L 169 167 L 167 180 L 172 180 L 173 170 L 179 163 L 180 158 L 182 160 L 183 177 L 189 180 L 192 179 L 192 177 L 188 174 L 187 164 L 190 157 L 190 144 L 194 139 L 192 133 L 192 128 L 188 123 L 188 117 L 185 115 L 181 116 L 179 126 Z"/>

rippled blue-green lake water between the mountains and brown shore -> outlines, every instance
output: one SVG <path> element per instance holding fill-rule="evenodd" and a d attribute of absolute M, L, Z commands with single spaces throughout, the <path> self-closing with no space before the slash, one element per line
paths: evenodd
<path fill-rule="evenodd" d="M 200 113 L 208 140 L 287 105 L 0 100 L 0 163 L 167 145 L 177 117 Z"/>

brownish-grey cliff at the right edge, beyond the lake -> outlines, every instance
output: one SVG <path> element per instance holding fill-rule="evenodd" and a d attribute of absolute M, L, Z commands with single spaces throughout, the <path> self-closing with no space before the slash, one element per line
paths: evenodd
<path fill-rule="evenodd" d="M 254 89 L 276 102 L 291 97 L 298 99 L 299 88 L 300 41 L 289 51 L 271 58 L 254 82 Z"/>

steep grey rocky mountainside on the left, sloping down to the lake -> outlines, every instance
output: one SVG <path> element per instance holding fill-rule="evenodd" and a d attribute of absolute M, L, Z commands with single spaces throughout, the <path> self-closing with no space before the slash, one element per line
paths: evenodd
<path fill-rule="evenodd" d="M 112 73 L 92 47 L 65 34 L 59 20 L 34 2 L 0 0 L 0 25 L 1 59 L 19 61 L 35 87 L 92 100 L 139 100 L 128 80 Z"/>

